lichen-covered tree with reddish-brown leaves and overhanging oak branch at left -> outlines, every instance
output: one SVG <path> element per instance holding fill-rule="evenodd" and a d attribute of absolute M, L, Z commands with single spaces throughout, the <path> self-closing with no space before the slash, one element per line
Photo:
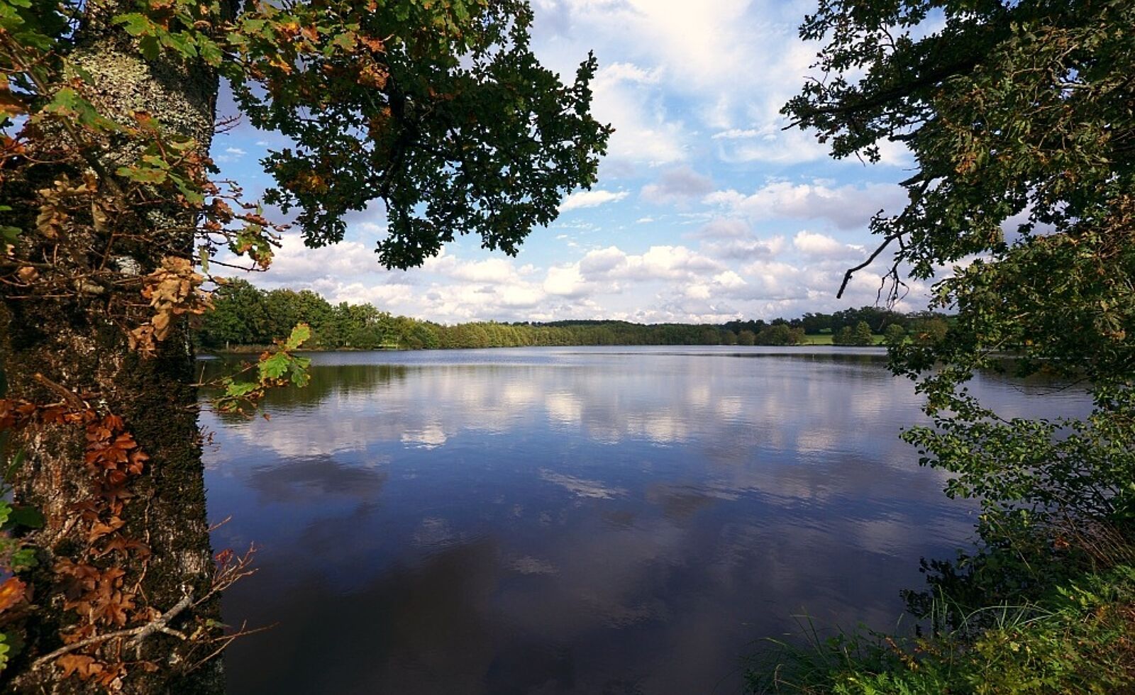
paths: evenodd
<path fill-rule="evenodd" d="M 292 139 L 266 160 L 266 201 L 309 244 L 381 206 L 387 267 L 456 233 L 515 253 L 595 181 L 609 134 L 588 114 L 594 58 L 562 83 L 529 49 L 531 20 L 521 0 L 0 0 L 0 428 L 28 459 L 16 503 L 45 517 L 6 541 L 39 556 L 17 568 L 34 595 L 5 584 L 0 630 L 25 640 L 12 688 L 221 687 L 193 667 L 218 638 L 218 577 L 242 566 L 210 558 L 187 317 L 209 309 L 217 251 L 267 267 L 275 227 L 210 181 L 219 78 Z M 222 402 L 302 380 L 306 337 Z"/>

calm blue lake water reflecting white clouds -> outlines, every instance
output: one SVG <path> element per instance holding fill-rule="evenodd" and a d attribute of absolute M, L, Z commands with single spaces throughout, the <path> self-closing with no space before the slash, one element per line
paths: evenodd
<path fill-rule="evenodd" d="M 898 439 L 881 351 L 322 353 L 202 424 L 215 546 L 255 542 L 233 694 L 735 693 L 753 640 L 893 627 L 972 506 Z M 1007 415 L 1083 396 L 984 379 Z M 1040 396 L 1044 396 L 1042 400 Z"/>

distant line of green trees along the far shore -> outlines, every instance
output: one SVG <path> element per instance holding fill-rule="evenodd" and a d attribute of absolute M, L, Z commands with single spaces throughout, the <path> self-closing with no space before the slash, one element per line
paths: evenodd
<path fill-rule="evenodd" d="M 729 321 L 728 324 L 631 324 L 580 320 L 498 324 L 479 321 L 444 326 L 393 316 L 371 304 L 331 304 L 304 290 L 258 290 L 242 279 L 213 294 L 216 309 L 204 315 L 196 340 L 205 350 L 267 345 L 305 323 L 312 328 L 309 346 L 335 349 L 516 348 L 538 345 L 797 345 L 816 342 L 806 336 L 831 335 L 836 345 L 871 345 L 874 336 L 939 335 L 948 317 L 899 313 L 877 307 L 835 313 L 805 313 L 796 319 Z"/>

